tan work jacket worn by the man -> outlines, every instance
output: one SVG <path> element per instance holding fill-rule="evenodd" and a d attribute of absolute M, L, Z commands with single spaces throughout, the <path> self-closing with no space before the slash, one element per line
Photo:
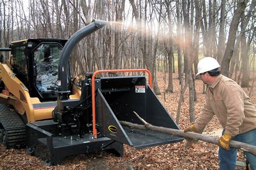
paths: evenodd
<path fill-rule="evenodd" d="M 216 115 L 232 137 L 256 129 L 256 110 L 244 90 L 232 79 L 218 75 L 206 92 L 206 102 L 195 125 L 199 130 Z"/>

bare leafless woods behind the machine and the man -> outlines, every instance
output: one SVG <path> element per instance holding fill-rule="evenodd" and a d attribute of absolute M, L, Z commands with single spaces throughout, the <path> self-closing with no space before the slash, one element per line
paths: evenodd
<path fill-rule="evenodd" d="M 250 87 L 254 80 L 255 1 L 246 0 L 2 0 L 0 45 L 27 38 L 69 39 L 92 19 L 111 23 L 79 42 L 72 53 L 72 74 L 99 69 L 147 68 L 154 93 L 157 72 L 173 93 L 174 72 L 181 91 L 187 84 L 190 122 L 197 91 L 194 73 L 203 56 L 213 56 L 221 72 Z M 4 54 L 9 58 L 9 53 Z M 184 76 L 183 76 L 184 75 Z M 254 81 L 252 81 L 254 83 Z M 252 86 L 253 87 L 253 86 Z M 203 87 L 202 87 L 203 88 Z M 182 90 L 183 89 L 183 90 Z M 182 101 L 182 93 L 180 101 Z M 179 123 L 179 109 L 176 122 Z"/>

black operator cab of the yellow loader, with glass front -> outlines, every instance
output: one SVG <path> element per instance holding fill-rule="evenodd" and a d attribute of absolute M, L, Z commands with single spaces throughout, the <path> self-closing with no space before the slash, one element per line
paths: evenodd
<path fill-rule="evenodd" d="M 66 40 L 53 38 L 11 42 L 10 64 L 31 97 L 57 100 L 58 64 Z"/>

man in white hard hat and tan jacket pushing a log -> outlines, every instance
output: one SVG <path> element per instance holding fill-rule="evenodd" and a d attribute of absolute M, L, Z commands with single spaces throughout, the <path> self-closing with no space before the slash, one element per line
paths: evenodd
<path fill-rule="evenodd" d="M 217 116 L 223 135 L 219 139 L 220 169 L 235 169 L 237 148 L 230 148 L 230 140 L 256 145 L 256 110 L 244 90 L 233 80 L 221 75 L 217 60 L 206 57 L 198 62 L 201 80 L 208 84 L 206 102 L 199 117 L 190 128 L 184 130 L 200 132 L 205 125 Z M 251 169 L 256 169 L 256 156 L 245 152 Z"/>

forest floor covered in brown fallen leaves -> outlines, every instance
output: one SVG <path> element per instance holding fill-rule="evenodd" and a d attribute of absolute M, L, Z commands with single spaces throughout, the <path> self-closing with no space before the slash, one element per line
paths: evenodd
<path fill-rule="evenodd" d="M 166 74 L 166 76 L 168 76 Z M 157 74 L 158 85 L 161 95 L 158 96 L 160 102 L 164 105 L 172 118 L 176 119 L 178 108 L 180 85 L 177 79 L 178 74 L 173 74 L 173 93 L 166 93 L 167 80 L 164 81 L 164 73 Z M 196 118 L 203 107 L 205 94 L 203 94 L 203 82 L 196 80 L 197 102 L 195 102 Z M 250 82 L 250 84 L 252 84 Z M 255 85 L 254 85 L 255 86 Z M 187 88 L 188 89 L 188 88 Z M 256 89 L 255 87 L 253 89 Z M 244 88 L 248 94 L 250 88 Z M 255 91 L 255 90 L 254 90 Z M 165 100 L 164 100 L 165 98 Z M 252 102 L 256 103 L 256 94 L 251 96 Z M 184 96 L 184 102 L 181 106 L 180 129 L 190 125 L 189 123 L 189 96 L 188 90 Z M 205 134 L 220 137 L 221 126 L 216 117 L 206 126 Z M 25 149 L 6 150 L 0 145 L 0 169 L 218 169 L 218 146 L 199 141 L 194 147 L 185 148 L 186 140 L 180 143 L 166 144 L 156 147 L 150 147 L 142 150 L 124 145 L 124 156 L 100 151 L 91 154 L 74 155 L 62 162 L 58 166 L 46 166 L 39 158 L 32 157 L 26 153 Z M 242 152 L 238 152 L 238 160 L 244 161 Z M 243 169 L 238 167 L 238 169 Z M 245 169 L 245 168 L 244 168 Z"/>

